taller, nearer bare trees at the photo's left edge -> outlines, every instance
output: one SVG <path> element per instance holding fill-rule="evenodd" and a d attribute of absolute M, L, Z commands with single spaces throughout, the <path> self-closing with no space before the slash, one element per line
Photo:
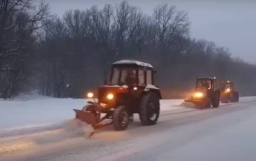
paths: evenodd
<path fill-rule="evenodd" d="M 47 5 L 38 8 L 31 0 L 0 1 L 0 97 L 10 98 L 19 93 L 21 83 L 27 82 L 31 52 L 36 30 L 42 27 Z"/>

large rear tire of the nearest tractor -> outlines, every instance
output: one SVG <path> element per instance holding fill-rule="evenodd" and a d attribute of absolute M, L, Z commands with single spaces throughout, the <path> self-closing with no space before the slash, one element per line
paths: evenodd
<path fill-rule="evenodd" d="M 147 93 L 142 96 L 140 102 L 140 121 L 142 125 L 155 125 L 159 118 L 159 96 L 155 93 Z"/>

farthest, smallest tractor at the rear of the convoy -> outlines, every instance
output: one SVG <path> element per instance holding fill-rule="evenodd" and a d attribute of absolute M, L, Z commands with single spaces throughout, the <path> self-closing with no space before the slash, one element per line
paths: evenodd
<path fill-rule="evenodd" d="M 222 103 L 239 102 L 239 92 L 236 91 L 233 82 L 221 82 L 220 87 L 220 100 Z"/>

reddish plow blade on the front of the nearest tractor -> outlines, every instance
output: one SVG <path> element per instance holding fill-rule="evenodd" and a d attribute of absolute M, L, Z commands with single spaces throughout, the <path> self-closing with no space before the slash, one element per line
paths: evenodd
<path fill-rule="evenodd" d="M 73 109 L 76 112 L 76 118 L 80 119 L 81 121 L 88 123 L 90 125 L 95 125 L 99 123 L 97 117 L 89 111 L 82 111 L 79 109 Z"/>

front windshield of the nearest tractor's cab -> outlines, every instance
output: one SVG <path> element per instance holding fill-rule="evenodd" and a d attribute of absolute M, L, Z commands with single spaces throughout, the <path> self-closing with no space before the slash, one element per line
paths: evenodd
<path fill-rule="evenodd" d="M 136 70 L 135 66 L 114 66 L 112 70 L 111 85 L 127 85 L 133 86 L 136 84 Z"/>

